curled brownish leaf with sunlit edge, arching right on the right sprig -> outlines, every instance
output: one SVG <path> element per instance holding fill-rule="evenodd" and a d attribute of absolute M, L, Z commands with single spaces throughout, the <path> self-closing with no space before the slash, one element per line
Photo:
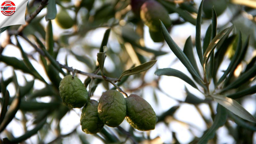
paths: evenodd
<path fill-rule="evenodd" d="M 223 38 L 223 36 L 225 36 L 225 34 L 228 32 L 228 31 L 231 31 L 233 29 L 233 26 L 230 27 L 230 28 L 226 28 L 226 29 L 223 29 L 220 33 L 218 33 L 218 35 L 216 35 L 211 43 L 208 45 L 205 53 L 204 53 L 204 58 L 203 58 L 203 67 L 204 69 L 206 69 L 206 63 L 207 61 L 209 60 L 209 56 L 212 54 L 212 52 L 214 51 L 216 45 L 220 42 L 220 39 Z"/>

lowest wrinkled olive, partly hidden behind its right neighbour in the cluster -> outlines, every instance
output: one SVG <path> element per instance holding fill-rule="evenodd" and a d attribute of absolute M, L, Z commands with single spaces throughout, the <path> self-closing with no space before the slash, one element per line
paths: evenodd
<path fill-rule="evenodd" d="M 96 100 L 88 101 L 82 109 L 80 124 L 82 125 L 82 131 L 87 134 L 96 134 L 102 130 L 104 124 L 99 118 L 98 102 Z"/>

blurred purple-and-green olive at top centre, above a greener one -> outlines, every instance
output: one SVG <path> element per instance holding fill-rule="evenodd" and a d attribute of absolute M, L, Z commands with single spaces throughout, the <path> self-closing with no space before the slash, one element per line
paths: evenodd
<path fill-rule="evenodd" d="M 161 31 L 161 20 L 166 28 L 172 25 L 167 10 L 155 0 L 148 0 L 140 7 L 140 18 L 151 31 Z"/>

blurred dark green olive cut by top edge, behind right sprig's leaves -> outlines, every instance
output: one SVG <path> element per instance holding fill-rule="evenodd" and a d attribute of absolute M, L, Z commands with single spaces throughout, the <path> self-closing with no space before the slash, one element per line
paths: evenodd
<path fill-rule="evenodd" d="M 212 7 L 216 11 L 217 16 L 222 14 L 227 8 L 228 2 L 226 0 L 204 0 L 203 11 L 206 18 L 212 17 Z"/>

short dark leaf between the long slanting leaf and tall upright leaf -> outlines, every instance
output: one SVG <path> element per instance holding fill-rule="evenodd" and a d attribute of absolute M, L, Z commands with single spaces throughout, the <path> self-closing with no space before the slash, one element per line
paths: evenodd
<path fill-rule="evenodd" d="M 183 52 L 188 57 L 188 60 L 191 62 L 192 66 L 195 68 L 197 74 L 200 75 L 199 69 L 196 64 L 196 59 L 194 57 L 193 43 L 192 43 L 191 36 L 189 36 L 188 39 L 186 40 Z"/>

